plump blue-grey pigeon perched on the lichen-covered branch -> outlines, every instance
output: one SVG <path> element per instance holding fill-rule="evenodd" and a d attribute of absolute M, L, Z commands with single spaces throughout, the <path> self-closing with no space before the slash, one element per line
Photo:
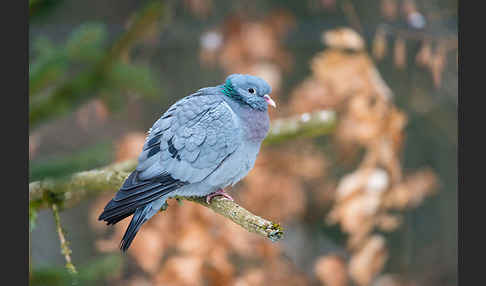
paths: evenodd
<path fill-rule="evenodd" d="M 121 240 L 125 252 L 140 227 L 172 197 L 215 196 L 253 168 L 268 133 L 272 88 L 262 78 L 232 74 L 173 104 L 150 128 L 136 169 L 98 220 L 116 224 L 133 214 Z"/>

